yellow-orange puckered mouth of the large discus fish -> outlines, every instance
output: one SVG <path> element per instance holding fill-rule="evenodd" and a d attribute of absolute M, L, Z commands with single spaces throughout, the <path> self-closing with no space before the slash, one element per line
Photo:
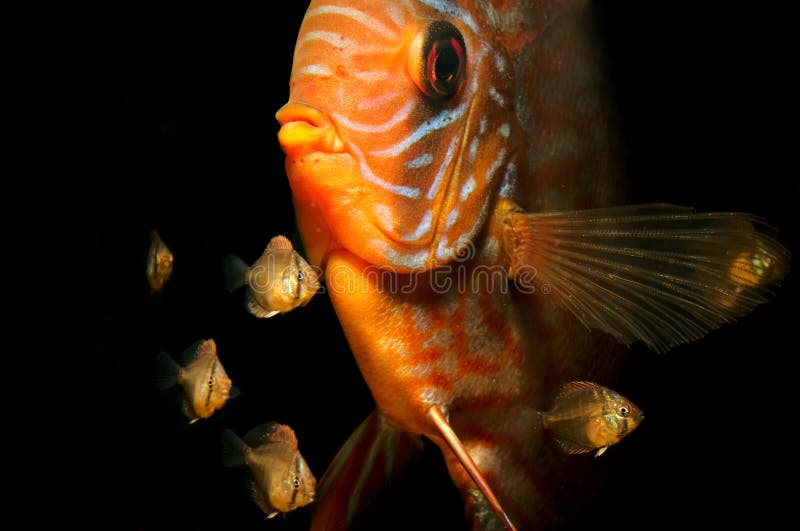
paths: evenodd
<path fill-rule="evenodd" d="M 341 153 L 345 145 L 328 116 L 313 105 L 291 101 L 278 109 L 278 141 L 288 156 L 307 153 Z"/>

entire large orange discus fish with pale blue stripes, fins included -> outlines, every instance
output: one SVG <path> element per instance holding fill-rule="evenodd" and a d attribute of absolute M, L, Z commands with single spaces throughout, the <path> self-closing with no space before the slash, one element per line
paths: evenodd
<path fill-rule="evenodd" d="M 311 2 L 276 117 L 309 261 L 377 411 L 321 479 L 346 529 L 425 436 L 473 529 L 569 505 L 538 411 L 765 302 L 756 217 L 624 204 L 586 1 Z"/>

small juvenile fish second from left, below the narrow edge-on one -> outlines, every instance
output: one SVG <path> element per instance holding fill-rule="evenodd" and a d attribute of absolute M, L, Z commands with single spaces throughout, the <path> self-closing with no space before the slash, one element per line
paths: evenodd
<path fill-rule="evenodd" d="M 181 355 L 183 366 L 178 365 L 166 352 L 156 357 L 158 387 L 162 391 L 178 384 L 185 393 L 183 411 L 191 423 L 207 419 L 239 390 L 217 357 L 217 344 L 205 339 L 186 349 Z"/>

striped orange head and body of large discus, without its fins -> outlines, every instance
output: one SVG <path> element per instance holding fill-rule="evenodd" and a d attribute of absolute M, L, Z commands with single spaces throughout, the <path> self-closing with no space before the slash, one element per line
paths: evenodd
<path fill-rule="evenodd" d="M 312 1 L 277 113 L 309 261 L 377 407 L 441 447 L 476 529 L 501 524 L 426 412 L 518 527 L 544 528 L 570 465 L 542 397 L 616 369 L 610 336 L 510 285 L 504 248 L 510 212 L 622 202 L 588 4 Z"/>

